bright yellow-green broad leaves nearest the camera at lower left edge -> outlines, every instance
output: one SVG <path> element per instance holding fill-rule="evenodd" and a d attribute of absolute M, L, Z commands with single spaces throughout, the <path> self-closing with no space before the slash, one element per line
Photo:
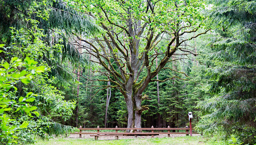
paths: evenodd
<path fill-rule="evenodd" d="M 35 100 L 33 93 L 28 93 L 25 97 L 19 97 L 18 101 L 11 100 L 9 98 L 8 93 L 11 91 L 17 91 L 15 84 L 19 81 L 23 83 L 29 83 L 31 79 L 36 74 L 41 74 L 42 71 L 36 71 L 39 67 L 36 67 L 34 60 L 30 58 L 25 58 L 24 61 L 18 59 L 17 57 L 11 58 L 10 63 L 2 61 L 0 64 L 0 120 L 1 120 L 1 135 L 0 142 L 2 144 L 12 144 L 17 143 L 17 135 L 16 132 L 21 128 L 27 128 L 28 122 L 23 121 L 23 123 L 16 126 L 12 122 L 14 119 L 9 117 L 9 111 L 16 113 L 25 113 L 30 117 L 32 115 L 39 116 L 39 114 L 35 111 L 37 107 L 31 106 L 29 102 L 33 102 Z M 22 71 L 19 71 L 18 68 L 23 68 Z"/>

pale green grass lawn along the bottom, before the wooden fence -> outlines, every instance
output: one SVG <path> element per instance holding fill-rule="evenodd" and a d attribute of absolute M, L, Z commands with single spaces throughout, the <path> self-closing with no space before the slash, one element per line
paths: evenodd
<path fill-rule="evenodd" d="M 184 136 L 184 137 L 165 137 L 165 138 L 153 138 L 153 139 L 126 139 L 126 140 L 98 140 L 94 139 L 68 139 L 68 138 L 57 138 L 49 141 L 37 141 L 35 144 L 225 144 L 223 142 L 208 142 L 202 136 Z"/>

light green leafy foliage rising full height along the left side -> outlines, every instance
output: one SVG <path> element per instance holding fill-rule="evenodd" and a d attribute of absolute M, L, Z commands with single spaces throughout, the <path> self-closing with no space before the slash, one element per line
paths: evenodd
<path fill-rule="evenodd" d="M 63 100 L 63 93 L 57 90 L 52 84 L 49 84 L 52 81 L 49 80 L 48 74 L 50 74 L 50 70 L 54 70 L 52 62 L 55 62 L 55 65 L 56 62 L 61 62 L 60 60 L 55 61 L 54 56 L 60 54 L 63 45 L 47 44 L 46 39 L 48 35 L 44 34 L 44 30 L 39 28 L 41 27 L 41 21 L 35 19 L 35 16 L 38 16 L 43 18 L 44 21 L 47 21 L 49 11 L 36 11 L 40 7 L 39 5 L 45 6 L 44 2 L 45 1 L 37 3 L 34 1 L 28 6 L 30 8 L 28 11 L 29 16 L 25 15 L 20 17 L 23 18 L 23 21 L 26 22 L 27 25 L 23 25 L 23 28 L 11 28 L 10 36 L 12 43 L 8 44 L 9 46 L 7 47 L 7 51 L 5 51 L 4 60 L 10 63 L 17 61 L 18 63 L 13 67 L 18 67 L 16 66 L 18 64 L 23 66 L 15 69 L 19 70 L 17 72 L 12 72 L 14 71 L 12 69 L 8 70 L 9 77 L 15 81 L 20 79 L 20 81 L 9 81 L 10 86 L 4 85 L 5 94 L 8 96 L 8 99 L 5 99 L 3 102 L 7 102 L 8 105 L 3 109 L 4 111 L 9 111 L 8 114 L 11 115 L 13 119 L 8 120 L 8 116 L 4 115 L 5 118 L 2 118 L 2 120 L 8 121 L 4 126 L 8 126 L 8 124 L 13 124 L 13 126 L 9 128 L 9 131 L 4 130 L 4 133 L 9 133 L 8 135 L 10 137 L 1 137 L 3 142 L 7 142 L 8 140 L 11 142 L 11 140 L 13 140 L 12 135 L 14 135 L 20 136 L 15 138 L 18 143 L 33 143 L 36 136 L 40 136 L 42 139 L 48 139 L 52 135 L 66 134 L 70 131 L 74 131 L 72 127 L 63 126 L 53 120 L 49 120 L 49 118 L 55 119 L 55 121 L 68 120 L 73 114 L 75 101 Z M 10 2 L 8 4 L 12 5 L 13 3 Z M 20 5 L 20 3 L 17 3 L 17 7 L 19 7 L 18 5 Z M 21 63 L 21 60 L 17 59 L 17 57 L 11 58 L 12 56 L 24 58 L 24 63 Z M 4 60 L 1 65 L 1 73 L 9 67 L 12 67 L 12 65 L 10 66 L 10 64 Z M 39 67 L 33 68 L 36 64 L 39 65 Z M 41 74 L 43 72 L 46 73 Z M 36 75 L 36 77 L 33 77 L 34 75 Z M 4 77 L 1 78 L 1 80 L 2 79 L 3 81 L 7 81 L 4 80 Z M 68 79 L 70 79 L 70 77 L 66 77 L 66 80 Z M 14 91 L 11 87 L 14 87 Z M 37 95 L 31 92 L 36 92 Z M 29 106 L 29 103 L 34 104 L 34 106 Z M 8 108 L 9 105 L 14 106 L 15 109 L 10 110 Z M 25 114 L 32 118 L 24 117 Z M 39 115 L 39 118 L 35 117 Z M 20 120 L 20 118 L 23 118 L 23 120 Z M 25 120 L 26 122 L 24 122 Z M 30 124 L 34 125 L 30 126 Z M 4 126 L 3 128 L 5 128 Z M 20 129 L 20 127 L 22 129 Z"/>

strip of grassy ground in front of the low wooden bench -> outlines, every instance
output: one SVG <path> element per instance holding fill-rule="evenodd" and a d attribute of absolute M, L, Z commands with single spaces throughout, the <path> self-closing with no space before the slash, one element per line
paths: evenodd
<path fill-rule="evenodd" d="M 76 135 L 79 136 L 79 135 Z M 82 136 L 82 138 L 76 136 L 65 137 L 57 137 L 55 139 L 50 139 L 49 141 L 37 141 L 36 145 L 44 145 L 44 144 L 52 144 L 52 145 L 75 145 L 75 144 L 125 144 L 125 145 L 133 145 L 133 144 L 224 144 L 221 142 L 209 142 L 206 138 L 202 136 L 183 136 L 183 135 L 175 135 L 171 137 L 167 136 L 158 136 L 151 138 L 151 136 L 138 136 L 133 137 L 129 136 L 120 136 L 119 140 L 114 140 L 112 136 L 111 139 L 104 139 L 105 137 L 99 137 L 98 141 L 94 140 L 94 137 L 87 137 L 86 135 Z M 121 137 L 127 137 L 126 139 L 122 139 Z"/>

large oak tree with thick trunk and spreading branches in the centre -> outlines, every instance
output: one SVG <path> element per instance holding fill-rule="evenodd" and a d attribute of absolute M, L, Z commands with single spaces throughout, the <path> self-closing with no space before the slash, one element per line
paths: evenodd
<path fill-rule="evenodd" d="M 103 29 L 101 36 L 91 39 L 77 36 L 84 43 L 91 60 L 104 68 L 100 73 L 124 95 L 127 127 L 141 127 L 143 91 L 165 64 L 175 61 L 177 51 L 185 42 L 207 31 L 197 33 L 203 26 L 201 12 L 204 5 L 195 0 L 92 0 L 68 1 L 68 5 L 95 18 Z M 190 33 L 195 35 L 188 37 Z M 165 47 L 159 47 L 164 43 Z M 161 59 L 156 67 L 156 58 Z M 173 70 L 173 69 L 171 69 Z M 146 73 L 142 73 L 145 71 Z M 175 70 L 174 70 L 175 71 Z M 185 75 L 185 74 L 184 74 Z M 173 76 L 167 80 L 178 78 Z"/>

